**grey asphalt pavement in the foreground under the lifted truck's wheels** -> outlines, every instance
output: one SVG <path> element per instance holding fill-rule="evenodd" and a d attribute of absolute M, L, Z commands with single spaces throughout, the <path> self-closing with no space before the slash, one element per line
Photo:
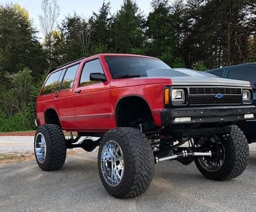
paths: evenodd
<path fill-rule="evenodd" d="M 155 166 L 148 191 L 133 199 L 115 199 L 105 191 L 98 176 L 97 151 L 70 154 L 55 172 L 43 172 L 34 160 L 0 167 L 0 191 L 3 212 L 254 212 L 256 144 L 250 145 L 248 167 L 236 179 L 211 181 L 194 163 L 167 161 Z"/>

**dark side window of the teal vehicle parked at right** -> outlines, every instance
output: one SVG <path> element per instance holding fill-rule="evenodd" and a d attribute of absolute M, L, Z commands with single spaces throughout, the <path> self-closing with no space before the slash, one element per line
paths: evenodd
<path fill-rule="evenodd" d="M 256 83 L 256 68 L 253 66 L 247 66 L 230 69 L 228 78 L 234 80 L 245 80 L 254 84 Z"/>

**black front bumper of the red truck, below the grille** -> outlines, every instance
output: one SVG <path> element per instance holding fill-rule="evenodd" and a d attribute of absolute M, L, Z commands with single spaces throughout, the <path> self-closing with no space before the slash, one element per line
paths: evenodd
<path fill-rule="evenodd" d="M 256 106 L 213 106 L 213 107 L 186 107 L 163 109 L 161 114 L 163 126 L 173 124 L 199 124 L 199 123 L 223 123 L 238 122 L 244 119 L 248 113 L 256 114 Z M 191 117 L 191 122 L 175 122 L 175 118 Z"/>

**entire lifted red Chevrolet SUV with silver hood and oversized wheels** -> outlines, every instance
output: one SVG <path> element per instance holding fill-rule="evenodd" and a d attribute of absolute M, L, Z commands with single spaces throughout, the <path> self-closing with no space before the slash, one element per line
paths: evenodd
<path fill-rule="evenodd" d="M 36 160 L 57 170 L 66 149 L 100 146 L 100 179 L 118 198 L 145 192 L 154 163 L 166 160 L 194 161 L 208 179 L 235 178 L 249 160 L 236 124 L 254 119 L 252 96 L 249 82 L 174 70 L 153 57 L 82 58 L 53 70 L 37 97 Z"/>

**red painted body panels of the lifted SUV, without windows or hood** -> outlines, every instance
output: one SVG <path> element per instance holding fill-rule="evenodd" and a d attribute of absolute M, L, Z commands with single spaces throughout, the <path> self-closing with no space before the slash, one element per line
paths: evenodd
<path fill-rule="evenodd" d="M 106 56 L 153 58 L 127 54 L 99 54 L 55 70 L 54 73 L 78 66 L 71 88 L 47 94 L 43 94 L 43 89 L 41 89 L 37 98 L 38 125 L 45 124 L 47 111 L 54 110 L 59 117 L 62 129 L 78 132 L 106 132 L 117 127 L 116 110 L 120 100 L 127 96 L 139 96 L 150 107 L 156 126 L 162 126 L 160 110 L 164 108 L 163 90 L 165 85 L 172 85 L 172 80 L 161 78 L 113 79 L 105 60 Z M 84 66 L 95 60 L 100 62 L 106 81 L 80 85 Z M 99 72 L 99 70 L 89 71 Z"/>

